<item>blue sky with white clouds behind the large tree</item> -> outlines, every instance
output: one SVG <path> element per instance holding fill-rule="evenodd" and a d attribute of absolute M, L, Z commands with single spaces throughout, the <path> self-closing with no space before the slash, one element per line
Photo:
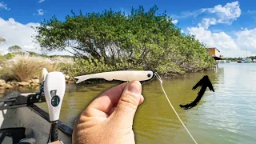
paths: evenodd
<path fill-rule="evenodd" d="M 173 23 L 185 34 L 194 34 L 200 42 L 216 47 L 224 57 L 245 57 L 256 55 L 256 1 L 226 0 L 0 0 L 0 51 L 6 54 L 9 46 L 18 45 L 23 50 L 40 53 L 34 43 L 36 32 L 30 26 L 40 26 L 43 19 L 52 16 L 64 21 L 71 10 L 78 13 L 102 12 L 102 10 L 122 10 L 130 13 L 132 7 L 144 6 L 149 10 L 158 6 L 158 13 L 166 13 Z M 54 52 L 51 54 L 69 54 Z"/>

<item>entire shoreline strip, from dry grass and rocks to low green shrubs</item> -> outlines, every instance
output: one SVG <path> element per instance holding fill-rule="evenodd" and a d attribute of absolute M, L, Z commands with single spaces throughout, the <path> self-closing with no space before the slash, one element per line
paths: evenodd
<path fill-rule="evenodd" d="M 0 58 L 0 78 L 5 81 L 6 84 L 10 85 L 6 87 L 38 86 L 38 76 L 44 67 L 49 72 L 62 71 L 66 74 L 66 80 L 68 82 L 74 82 L 74 77 L 82 74 L 94 74 L 114 70 L 147 70 L 143 66 L 135 66 L 132 62 L 118 62 L 115 65 L 108 65 L 103 58 L 100 60 L 90 57 L 87 59 L 66 59 L 62 57 L 46 58 L 42 56 L 21 55 L 12 55 L 10 57 L 10 54 L 0 56 Z M 165 69 L 160 66 L 155 68 L 154 72 L 158 72 L 158 74 L 164 76 L 175 76 L 178 74 L 210 70 L 210 68 L 205 69 L 199 65 L 193 66 L 186 64 L 185 66 L 187 66 L 185 67 L 186 70 L 184 70 L 184 65 L 170 65 L 170 67 L 166 67 Z M 166 70 L 168 70 L 167 73 Z"/>

